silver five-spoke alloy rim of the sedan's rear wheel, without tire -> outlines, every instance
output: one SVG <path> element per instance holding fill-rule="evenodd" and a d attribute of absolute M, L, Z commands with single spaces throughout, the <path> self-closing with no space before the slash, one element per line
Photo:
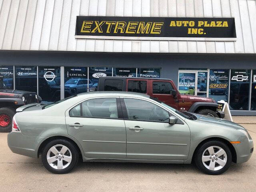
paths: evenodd
<path fill-rule="evenodd" d="M 52 146 L 46 155 L 48 164 L 54 169 L 67 168 L 72 161 L 72 153 L 62 144 Z"/>

